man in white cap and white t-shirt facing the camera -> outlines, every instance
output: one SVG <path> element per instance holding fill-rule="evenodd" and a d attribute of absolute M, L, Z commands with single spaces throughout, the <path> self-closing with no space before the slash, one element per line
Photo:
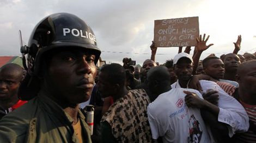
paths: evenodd
<path fill-rule="evenodd" d="M 193 60 L 189 54 L 179 53 L 174 57 L 174 69 L 178 81 L 173 83 L 172 88 L 187 88 L 187 83 L 192 76 L 192 63 Z M 215 82 L 201 80 L 200 85 L 203 93 L 208 89 L 218 91 L 218 103 L 210 104 L 209 106 L 212 109 L 208 106 L 201 108 L 204 121 L 210 126 L 215 139 L 229 139 L 235 132 L 246 132 L 248 130 L 248 115 L 239 102 L 225 93 Z M 190 100 L 194 100 L 193 96 Z"/>

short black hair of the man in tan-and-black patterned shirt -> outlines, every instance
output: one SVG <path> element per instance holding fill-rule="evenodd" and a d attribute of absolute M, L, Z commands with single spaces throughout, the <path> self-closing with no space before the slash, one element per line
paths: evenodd
<path fill-rule="evenodd" d="M 125 85 L 126 81 L 126 72 L 123 66 L 118 63 L 111 63 L 106 66 L 103 66 L 100 69 L 100 72 L 103 72 L 107 75 L 107 79 L 112 84 Z"/>

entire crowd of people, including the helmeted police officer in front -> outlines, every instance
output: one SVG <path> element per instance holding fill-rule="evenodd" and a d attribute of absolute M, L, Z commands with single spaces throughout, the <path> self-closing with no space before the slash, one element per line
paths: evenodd
<path fill-rule="evenodd" d="M 200 60 L 209 37 L 163 64 L 152 41 L 142 67 L 97 67 L 93 30 L 47 16 L 21 47 L 23 68 L 0 68 L 0 142 L 256 142 L 256 52 L 239 55 L 239 35 L 233 53 Z"/>

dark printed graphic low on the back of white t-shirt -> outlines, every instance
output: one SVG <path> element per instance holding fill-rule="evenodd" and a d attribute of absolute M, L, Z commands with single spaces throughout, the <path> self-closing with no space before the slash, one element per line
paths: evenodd
<path fill-rule="evenodd" d="M 188 136 L 187 142 L 188 143 L 200 142 L 203 131 L 199 124 L 199 121 L 194 117 L 194 115 L 191 115 L 190 120 L 188 120 L 188 128 L 190 130 L 189 130 L 189 136 Z"/>

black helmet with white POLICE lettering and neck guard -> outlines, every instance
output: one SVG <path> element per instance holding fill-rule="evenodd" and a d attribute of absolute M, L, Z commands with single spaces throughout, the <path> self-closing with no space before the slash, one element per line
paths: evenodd
<path fill-rule="evenodd" d="M 27 71 L 18 96 L 30 100 L 40 89 L 39 77 L 44 55 L 51 51 L 80 48 L 95 54 L 94 63 L 99 60 L 101 51 L 93 30 L 80 18 L 68 13 L 58 13 L 42 19 L 32 31 L 28 46 L 21 47 L 23 67 Z M 27 54 L 27 59 L 24 55 Z"/>

